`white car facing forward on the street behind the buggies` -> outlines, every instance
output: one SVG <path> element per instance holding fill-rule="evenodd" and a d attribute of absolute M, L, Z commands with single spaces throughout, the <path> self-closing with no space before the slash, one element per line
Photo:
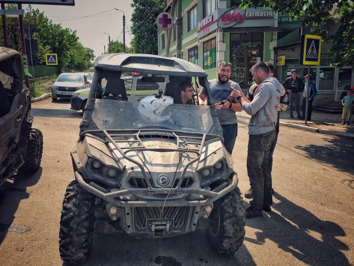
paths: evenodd
<path fill-rule="evenodd" d="M 61 73 L 57 80 L 53 79 L 52 100 L 71 98 L 75 91 L 90 87 L 84 73 Z"/>

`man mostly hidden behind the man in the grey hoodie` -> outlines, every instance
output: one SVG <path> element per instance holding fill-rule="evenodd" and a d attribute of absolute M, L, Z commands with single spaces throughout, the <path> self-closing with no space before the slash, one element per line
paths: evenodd
<path fill-rule="evenodd" d="M 269 77 L 271 78 L 275 78 L 274 77 L 274 72 L 275 72 L 275 69 L 274 69 L 274 66 L 272 63 L 270 62 L 266 62 L 266 65 L 269 67 Z M 257 90 L 257 87 L 259 86 L 259 84 L 253 84 L 248 92 L 247 92 L 247 96 L 246 98 L 249 100 L 249 102 L 251 102 L 253 100 L 253 95 L 254 95 L 254 91 Z M 280 91 L 280 97 L 283 97 L 286 93 L 284 87 L 282 85 L 281 86 L 281 91 Z M 271 171 L 272 171 L 272 168 L 273 168 L 273 153 L 274 153 L 274 149 L 275 149 L 275 145 L 277 143 L 277 140 L 278 140 L 278 134 L 279 134 L 279 112 L 282 111 L 280 108 L 278 108 L 278 116 L 277 116 L 277 121 L 275 123 L 275 137 L 274 137 L 274 140 L 273 142 L 271 143 L 270 145 L 270 151 L 269 151 L 269 160 L 268 160 L 268 163 L 269 163 L 269 168 L 270 168 L 270 171 L 269 171 L 269 174 L 270 174 L 270 179 L 272 178 L 271 177 Z M 274 190 L 272 188 L 272 194 L 274 193 Z M 245 198 L 246 199 L 252 199 L 253 198 L 253 193 L 252 193 L 252 188 L 250 188 L 248 191 L 245 192 Z M 270 209 L 269 209 L 270 210 Z M 266 210 L 267 211 L 267 210 Z"/>

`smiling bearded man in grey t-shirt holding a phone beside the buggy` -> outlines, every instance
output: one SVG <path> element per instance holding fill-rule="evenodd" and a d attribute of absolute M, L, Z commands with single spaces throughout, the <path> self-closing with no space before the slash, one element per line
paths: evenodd
<path fill-rule="evenodd" d="M 223 129 L 224 146 L 232 154 L 237 136 L 237 117 L 235 112 L 242 111 L 242 106 L 230 94 L 232 92 L 231 87 L 237 91 L 241 91 L 241 88 L 236 82 L 230 80 L 230 62 L 222 61 L 216 73 L 217 78 L 209 80 L 209 87 L 212 97 L 218 101 L 218 103 L 215 103 L 215 107 L 218 110 L 220 125 Z M 207 100 L 205 88 L 202 88 L 198 96 L 200 104 L 203 104 Z"/>

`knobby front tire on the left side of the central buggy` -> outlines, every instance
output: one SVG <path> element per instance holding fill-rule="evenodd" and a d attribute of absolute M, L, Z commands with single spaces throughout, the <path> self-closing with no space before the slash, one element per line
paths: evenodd
<path fill-rule="evenodd" d="M 95 222 L 94 201 L 94 196 L 77 181 L 66 188 L 59 230 L 60 257 L 66 263 L 82 263 L 89 257 Z"/>

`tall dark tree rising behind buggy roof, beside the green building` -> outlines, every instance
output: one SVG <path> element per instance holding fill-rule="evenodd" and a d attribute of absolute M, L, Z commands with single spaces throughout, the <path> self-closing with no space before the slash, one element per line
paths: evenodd
<path fill-rule="evenodd" d="M 133 0 L 131 6 L 134 8 L 132 14 L 131 32 L 134 38 L 131 42 L 135 53 L 157 55 L 157 30 L 155 19 L 163 10 L 161 0 Z"/>

